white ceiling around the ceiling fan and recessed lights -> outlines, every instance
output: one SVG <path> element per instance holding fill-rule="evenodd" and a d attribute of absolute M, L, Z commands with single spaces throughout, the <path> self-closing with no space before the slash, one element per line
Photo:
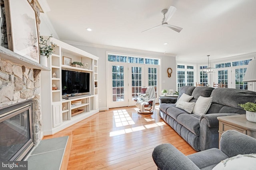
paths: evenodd
<path fill-rule="evenodd" d="M 62 40 L 174 54 L 187 61 L 256 51 L 256 0 L 46 2 L 50 11 L 45 13 Z M 168 23 L 183 30 L 158 27 L 142 33 L 161 24 L 161 11 L 169 6 L 177 10 Z"/>

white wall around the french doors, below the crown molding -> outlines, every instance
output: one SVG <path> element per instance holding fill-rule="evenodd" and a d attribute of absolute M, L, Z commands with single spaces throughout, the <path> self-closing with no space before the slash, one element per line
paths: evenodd
<path fill-rule="evenodd" d="M 88 53 L 91 53 L 93 55 L 96 55 L 97 57 L 99 57 L 98 60 L 98 94 L 99 94 L 99 99 L 101 100 L 101 102 L 99 102 L 99 108 L 100 110 L 106 110 L 107 108 L 107 92 L 108 89 L 106 89 L 106 83 L 107 83 L 107 72 L 106 72 L 106 62 L 107 62 L 107 56 L 106 56 L 106 52 L 107 51 L 111 51 L 114 52 L 116 54 L 118 53 L 126 53 L 126 54 L 130 54 L 130 55 L 143 55 L 143 56 L 148 56 L 148 57 L 158 57 L 161 58 L 161 72 L 162 72 L 162 76 L 161 76 L 161 82 L 162 85 L 160 87 L 160 89 L 176 89 L 176 63 L 175 63 L 175 57 L 170 57 L 170 56 L 165 56 L 164 54 L 160 54 L 160 53 L 154 53 L 152 54 L 152 52 L 148 51 L 130 51 L 129 49 L 125 50 L 117 50 L 117 49 L 110 49 L 110 48 L 102 48 L 102 47 L 89 47 L 89 46 L 85 46 L 85 45 L 78 45 L 78 43 L 73 43 L 72 42 L 66 42 L 69 43 L 79 49 L 82 49 Z M 75 44 L 75 45 L 74 45 Z M 171 67 L 173 70 L 172 73 L 172 77 L 168 78 L 167 75 L 167 68 Z"/>

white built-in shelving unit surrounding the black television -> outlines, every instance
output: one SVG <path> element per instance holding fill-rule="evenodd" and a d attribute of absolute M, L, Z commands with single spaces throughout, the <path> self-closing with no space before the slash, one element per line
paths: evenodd
<path fill-rule="evenodd" d="M 51 38 L 57 46 L 48 57 L 49 71 L 41 73 L 41 102 L 44 135 L 52 135 L 99 112 L 98 107 L 98 57 L 72 45 Z M 63 56 L 73 61 L 88 63 L 87 68 L 78 68 L 63 63 Z M 90 73 L 90 92 L 79 98 L 64 99 L 62 96 L 62 69 Z M 53 77 L 53 73 L 56 77 Z M 55 84 L 57 89 L 52 89 Z M 72 107 L 72 101 L 82 104 Z"/>

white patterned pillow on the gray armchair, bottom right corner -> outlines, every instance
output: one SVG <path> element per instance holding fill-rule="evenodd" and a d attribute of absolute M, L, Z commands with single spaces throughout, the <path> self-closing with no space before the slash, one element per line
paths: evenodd
<path fill-rule="evenodd" d="M 212 170 L 255 170 L 256 154 L 239 154 L 218 163 Z"/>

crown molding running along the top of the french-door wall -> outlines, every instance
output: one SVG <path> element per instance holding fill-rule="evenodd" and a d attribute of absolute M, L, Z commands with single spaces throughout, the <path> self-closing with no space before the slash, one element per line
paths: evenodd
<path fill-rule="evenodd" d="M 61 40 L 65 43 L 68 43 L 70 45 L 81 45 L 81 46 L 87 46 L 87 47 L 96 47 L 96 48 L 103 48 L 103 49 L 112 49 L 112 50 L 120 50 L 120 51 L 128 51 L 128 52 L 134 52 L 134 53 L 144 53 L 144 54 L 151 54 L 151 55 L 160 55 L 160 56 L 167 56 L 167 57 L 176 57 L 174 54 L 169 53 L 159 53 L 155 51 L 146 51 L 146 50 L 139 50 L 139 49 L 129 49 L 124 47 L 115 47 L 110 45 L 100 45 L 100 44 L 92 44 L 92 43 L 82 43 L 77 41 L 69 41 L 69 40 Z"/>

